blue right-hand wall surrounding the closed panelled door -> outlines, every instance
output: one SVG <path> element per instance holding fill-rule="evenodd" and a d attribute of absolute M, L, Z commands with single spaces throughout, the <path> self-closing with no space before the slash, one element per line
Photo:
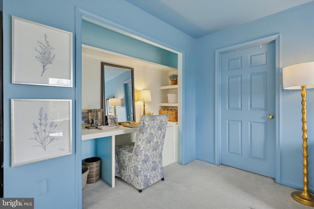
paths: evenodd
<path fill-rule="evenodd" d="M 215 49 L 281 34 L 281 67 L 314 61 L 314 2 L 197 40 L 196 155 L 214 163 Z M 280 72 L 282 80 L 282 73 Z M 280 85 L 280 84 L 277 84 Z M 280 86 L 282 89 L 282 86 Z M 281 183 L 303 187 L 300 91 L 281 90 Z M 314 190 L 314 90 L 307 91 L 310 189 Z"/>

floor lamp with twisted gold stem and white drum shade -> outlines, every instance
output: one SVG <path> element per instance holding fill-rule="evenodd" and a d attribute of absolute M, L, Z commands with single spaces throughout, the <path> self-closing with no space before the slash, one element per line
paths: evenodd
<path fill-rule="evenodd" d="M 303 147 L 303 191 L 294 191 L 291 197 L 299 203 L 307 206 L 314 206 L 314 198 L 309 192 L 308 184 L 308 128 L 306 126 L 306 88 L 314 88 L 314 62 L 291 65 L 283 69 L 284 89 L 301 89 L 302 97 L 302 147 Z"/>

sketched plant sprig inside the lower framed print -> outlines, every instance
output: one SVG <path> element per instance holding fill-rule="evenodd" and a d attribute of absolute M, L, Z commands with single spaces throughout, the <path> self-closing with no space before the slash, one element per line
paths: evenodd
<path fill-rule="evenodd" d="M 52 135 L 53 133 L 55 133 L 54 129 L 57 127 L 57 124 L 54 124 L 54 122 L 51 121 L 48 126 L 48 116 L 47 113 L 45 114 L 45 116 L 43 116 L 43 107 L 40 108 L 38 116 L 39 127 L 36 125 L 35 122 L 33 122 L 33 127 L 35 130 L 35 132 L 33 133 L 35 134 L 35 138 L 30 139 L 36 140 L 40 144 L 35 146 L 43 147 L 44 150 L 46 150 L 48 144 L 50 144 L 53 140 L 59 140 Z"/>

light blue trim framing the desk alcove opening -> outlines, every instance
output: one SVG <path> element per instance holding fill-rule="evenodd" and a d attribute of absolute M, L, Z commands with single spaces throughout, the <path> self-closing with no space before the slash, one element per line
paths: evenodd
<path fill-rule="evenodd" d="M 178 76 L 182 79 L 179 79 L 178 81 L 178 144 L 177 144 L 177 150 L 178 150 L 178 163 L 185 164 L 189 162 L 189 159 L 186 159 L 184 156 L 184 150 L 185 150 L 185 138 L 183 137 L 183 101 L 184 101 L 184 86 L 183 86 L 183 80 L 184 80 L 184 71 L 183 68 L 185 66 L 185 51 L 175 47 L 170 46 L 166 43 L 160 42 L 158 40 L 155 40 L 154 38 L 145 36 L 141 33 L 137 33 L 134 30 L 131 30 L 130 28 L 127 28 L 123 25 L 120 25 L 118 23 L 114 23 L 110 20 L 107 20 L 101 16 L 92 14 L 84 9 L 81 9 L 79 7 L 75 8 L 75 34 L 76 34 L 76 41 L 75 41 L 75 48 L 76 48 L 76 120 L 75 120 L 75 126 L 81 127 L 81 86 L 79 85 L 81 83 L 81 60 L 82 60 L 82 20 L 87 20 L 92 23 L 99 23 L 103 27 L 106 27 L 108 29 L 114 30 L 116 32 L 122 33 L 124 35 L 128 35 L 132 38 L 138 39 L 142 42 L 158 46 L 160 48 L 172 51 L 174 53 L 178 54 Z M 76 208 L 81 209 L 82 208 L 82 189 L 81 189 L 81 128 L 76 129 L 76 143 L 75 143 L 75 150 L 76 150 Z"/>

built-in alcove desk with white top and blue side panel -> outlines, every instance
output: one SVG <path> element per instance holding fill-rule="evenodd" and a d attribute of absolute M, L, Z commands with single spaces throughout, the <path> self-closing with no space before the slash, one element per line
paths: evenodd
<path fill-rule="evenodd" d="M 119 126 L 114 129 L 82 129 L 82 140 L 97 140 L 97 156 L 101 161 L 101 178 L 111 187 L 115 186 L 114 181 L 114 160 L 115 160 L 115 136 L 130 134 L 137 131 L 137 128 Z"/>

